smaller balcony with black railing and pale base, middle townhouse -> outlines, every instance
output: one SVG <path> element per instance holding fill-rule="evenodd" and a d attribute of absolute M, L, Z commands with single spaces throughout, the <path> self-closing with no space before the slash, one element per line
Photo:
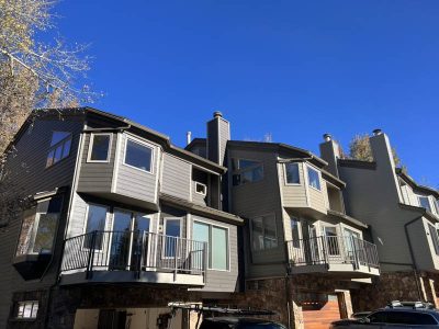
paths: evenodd
<path fill-rule="evenodd" d="M 380 275 L 376 246 L 356 237 L 288 241 L 291 274 L 328 273 L 351 279 Z"/>

